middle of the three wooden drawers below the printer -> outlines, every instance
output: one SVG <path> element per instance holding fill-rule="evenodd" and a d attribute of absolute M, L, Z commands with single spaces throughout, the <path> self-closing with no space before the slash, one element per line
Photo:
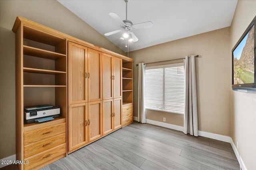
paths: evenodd
<path fill-rule="evenodd" d="M 38 154 L 63 143 L 66 143 L 66 133 L 62 133 L 60 135 L 56 135 L 39 142 L 26 145 L 24 147 L 24 158 L 28 158 L 34 154 Z"/>

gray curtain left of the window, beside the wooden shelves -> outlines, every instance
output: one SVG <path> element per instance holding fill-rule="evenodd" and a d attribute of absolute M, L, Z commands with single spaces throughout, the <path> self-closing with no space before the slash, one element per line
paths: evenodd
<path fill-rule="evenodd" d="M 145 110 L 145 70 L 146 64 L 139 63 L 139 78 L 138 78 L 138 122 L 146 123 Z"/>

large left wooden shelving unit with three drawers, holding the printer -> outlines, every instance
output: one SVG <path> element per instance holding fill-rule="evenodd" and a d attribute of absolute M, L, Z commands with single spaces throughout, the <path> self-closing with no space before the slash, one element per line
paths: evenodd
<path fill-rule="evenodd" d="M 19 169 L 37 169 L 67 155 L 67 39 L 19 17 L 12 31 L 16 33 L 16 160 L 29 161 Z M 60 117 L 26 124 L 24 107 L 44 104 L 60 107 Z"/>

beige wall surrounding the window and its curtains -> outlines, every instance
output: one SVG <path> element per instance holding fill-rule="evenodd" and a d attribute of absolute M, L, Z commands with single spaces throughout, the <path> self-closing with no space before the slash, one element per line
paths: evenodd
<path fill-rule="evenodd" d="M 189 29 L 189 25 L 188 25 Z M 138 116 L 137 63 L 200 55 L 196 58 L 198 129 L 230 136 L 230 27 L 186 37 L 129 53 L 134 59 L 134 116 Z M 146 118 L 183 126 L 183 115 L 146 111 Z"/>

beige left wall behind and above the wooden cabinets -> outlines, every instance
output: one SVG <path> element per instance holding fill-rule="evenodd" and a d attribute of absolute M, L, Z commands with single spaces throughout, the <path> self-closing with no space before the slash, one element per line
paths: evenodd
<path fill-rule="evenodd" d="M 0 159 L 15 154 L 15 34 L 22 16 L 116 53 L 125 53 L 56 0 L 0 0 Z"/>

